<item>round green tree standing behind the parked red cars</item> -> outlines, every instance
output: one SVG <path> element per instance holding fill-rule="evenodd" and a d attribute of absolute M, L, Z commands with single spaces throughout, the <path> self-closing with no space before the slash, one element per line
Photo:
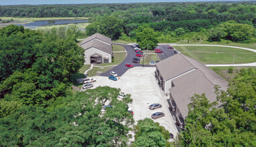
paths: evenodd
<path fill-rule="evenodd" d="M 142 48 L 154 49 L 159 41 L 157 40 L 157 33 L 154 29 L 140 26 L 136 29 L 136 41 Z"/>

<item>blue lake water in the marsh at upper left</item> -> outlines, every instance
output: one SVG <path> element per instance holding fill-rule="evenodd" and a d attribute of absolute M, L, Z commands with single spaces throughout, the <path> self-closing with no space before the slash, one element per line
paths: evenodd
<path fill-rule="evenodd" d="M 44 25 L 67 25 L 69 23 L 89 23 L 87 19 L 56 19 L 54 21 L 55 23 L 48 23 L 48 20 L 34 21 L 32 23 L 22 24 L 22 26 L 28 27 L 30 29 L 36 29 L 37 27 L 42 27 Z"/>

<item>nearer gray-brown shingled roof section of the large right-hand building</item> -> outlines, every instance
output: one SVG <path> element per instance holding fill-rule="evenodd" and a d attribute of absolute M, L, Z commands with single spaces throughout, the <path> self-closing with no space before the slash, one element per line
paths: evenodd
<path fill-rule="evenodd" d="M 216 101 L 214 84 L 198 69 L 172 80 L 172 82 L 174 87 L 170 88 L 169 91 L 183 119 L 185 119 L 188 114 L 187 105 L 191 103 L 190 98 L 194 96 L 194 94 L 201 95 L 205 93 L 206 98 L 208 98 L 210 102 Z"/>

